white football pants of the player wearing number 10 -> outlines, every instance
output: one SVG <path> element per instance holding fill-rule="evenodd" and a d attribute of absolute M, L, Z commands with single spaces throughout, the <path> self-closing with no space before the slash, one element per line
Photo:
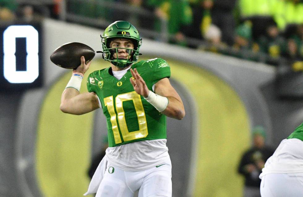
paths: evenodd
<path fill-rule="evenodd" d="M 96 197 L 133 197 L 139 190 L 139 197 L 171 197 L 172 165 L 170 158 L 157 167 L 139 172 L 129 172 L 108 162 Z"/>

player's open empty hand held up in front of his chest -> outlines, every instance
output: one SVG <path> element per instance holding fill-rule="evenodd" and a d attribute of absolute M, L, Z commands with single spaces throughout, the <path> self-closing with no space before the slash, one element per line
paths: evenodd
<path fill-rule="evenodd" d="M 130 83 L 134 86 L 134 90 L 137 94 L 140 94 L 144 97 L 148 97 L 149 90 L 143 78 L 139 75 L 137 69 L 130 69 L 131 75 Z"/>

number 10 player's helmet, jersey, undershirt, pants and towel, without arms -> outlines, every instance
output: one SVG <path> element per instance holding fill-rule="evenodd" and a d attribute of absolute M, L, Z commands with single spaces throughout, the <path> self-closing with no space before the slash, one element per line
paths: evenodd
<path fill-rule="evenodd" d="M 133 48 L 111 46 L 116 39 L 129 40 Z M 109 147 L 85 195 L 132 196 L 139 190 L 139 196 L 172 196 L 166 117 L 137 94 L 130 82 L 130 68 L 136 69 L 147 88 L 153 90 L 159 80 L 170 77 L 169 65 L 161 58 L 137 62 L 142 38 L 127 21 L 110 24 L 101 42 L 103 58 L 111 67 L 92 72 L 87 89 L 96 93 L 106 117 Z M 128 57 L 120 59 L 119 51 Z M 113 66 L 120 70 L 113 71 Z"/>

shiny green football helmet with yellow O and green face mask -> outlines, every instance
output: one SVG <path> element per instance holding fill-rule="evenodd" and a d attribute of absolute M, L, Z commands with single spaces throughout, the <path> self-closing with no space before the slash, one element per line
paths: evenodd
<path fill-rule="evenodd" d="M 139 32 L 132 24 L 127 21 L 116 21 L 110 24 L 101 36 L 103 59 L 109 61 L 113 65 L 119 68 L 125 68 L 132 63 L 138 61 L 139 49 L 142 44 L 142 38 L 139 36 Z M 114 39 L 130 40 L 134 44 L 134 49 L 130 48 L 110 48 L 110 42 Z M 128 52 L 127 59 L 118 58 L 118 49 L 126 49 Z M 113 55 L 117 54 L 117 58 Z"/>

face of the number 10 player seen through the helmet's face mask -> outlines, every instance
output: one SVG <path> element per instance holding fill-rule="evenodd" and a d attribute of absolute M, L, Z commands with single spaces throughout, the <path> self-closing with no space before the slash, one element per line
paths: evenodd
<path fill-rule="evenodd" d="M 110 42 L 109 44 L 110 48 L 119 48 L 118 53 L 116 51 L 113 51 L 113 58 L 116 59 L 118 56 L 118 59 L 127 59 L 130 58 L 130 51 L 127 49 L 122 48 L 130 48 L 134 49 L 134 44 L 130 40 L 124 40 L 124 39 L 115 39 Z"/>

